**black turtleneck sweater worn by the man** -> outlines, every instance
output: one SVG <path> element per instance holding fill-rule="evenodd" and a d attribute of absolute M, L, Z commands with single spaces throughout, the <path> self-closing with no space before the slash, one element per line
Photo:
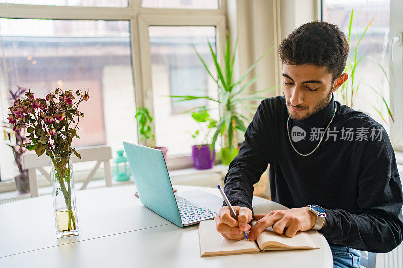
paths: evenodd
<path fill-rule="evenodd" d="M 288 208 L 323 207 L 326 225 L 320 232 L 330 245 L 388 252 L 402 241 L 403 194 L 394 151 L 382 125 L 332 96 L 324 109 L 308 118 L 289 119 L 291 140 L 293 127 L 306 132 L 305 139 L 292 144 L 301 154 L 310 153 L 321 137 L 312 134 L 324 131 L 335 108 L 322 143 L 312 154 L 301 156 L 287 134 L 284 97 L 263 100 L 239 155 L 229 166 L 224 191 L 231 204 L 252 209 L 253 184 L 270 164 L 272 200 Z M 353 136 L 346 134 L 348 130 Z M 327 132 L 334 135 L 326 140 Z"/>

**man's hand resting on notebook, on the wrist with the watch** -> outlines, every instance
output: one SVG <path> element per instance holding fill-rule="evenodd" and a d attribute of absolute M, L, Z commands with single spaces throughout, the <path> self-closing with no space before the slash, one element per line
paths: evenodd
<path fill-rule="evenodd" d="M 307 231 L 316 223 L 316 215 L 309 207 L 285 210 L 272 210 L 268 214 L 253 215 L 257 220 L 249 231 L 249 240 L 254 241 L 267 227 L 273 225 L 273 231 L 293 237 L 298 231 Z"/>

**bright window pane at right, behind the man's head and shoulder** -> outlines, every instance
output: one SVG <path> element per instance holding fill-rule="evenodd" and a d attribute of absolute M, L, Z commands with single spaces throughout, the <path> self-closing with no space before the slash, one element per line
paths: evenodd
<path fill-rule="evenodd" d="M 390 132 L 389 116 L 382 99 L 370 86 L 383 94 L 389 104 L 389 83 L 379 63 L 389 77 L 389 23 L 390 0 L 376 1 L 346 1 L 323 0 L 323 21 L 336 24 L 348 36 L 351 10 L 354 9 L 351 28 L 350 56 L 357 44 L 357 35 L 360 38 L 367 25 L 373 19 L 365 36 L 358 47 L 357 59 L 366 56 L 357 66 L 355 72 L 355 86 L 359 84 L 357 95 L 353 102 L 353 109 L 367 113 Z M 349 64 L 349 62 L 347 62 Z M 350 79 L 350 77 L 349 77 Z M 338 90 L 335 97 L 338 96 Z M 339 99 L 340 100 L 340 99 Z M 378 109 L 383 118 L 376 111 Z M 399 116 L 397 114 L 394 117 Z M 391 120 L 390 120 L 391 121 Z"/>

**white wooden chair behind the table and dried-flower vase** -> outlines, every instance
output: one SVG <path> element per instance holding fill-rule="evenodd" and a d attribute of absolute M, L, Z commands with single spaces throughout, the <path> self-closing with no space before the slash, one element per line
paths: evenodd
<path fill-rule="evenodd" d="M 81 159 L 77 158 L 76 155 L 73 154 L 73 163 L 82 163 L 89 161 L 97 161 L 94 168 L 91 170 L 90 174 L 83 182 L 83 186 L 80 190 L 85 189 L 88 183 L 91 181 L 95 172 L 98 170 L 101 163 L 104 163 L 104 171 L 105 171 L 105 181 L 106 187 L 112 186 L 112 174 L 110 170 L 109 160 L 112 159 L 112 148 L 109 146 L 93 146 L 78 149 L 77 152 L 81 155 Z M 38 157 L 36 154 L 30 153 L 25 154 L 23 156 L 24 168 L 28 169 L 29 176 L 29 188 L 31 191 L 31 197 L 38 196 L 38 180 L 36 177 L 36 169 L 42 173 L 42 175 L 47 178 L 50 182 L 50 175 L 43 168 L 44 166 L 49 166 L 49 157 L 43 154 Z"/>

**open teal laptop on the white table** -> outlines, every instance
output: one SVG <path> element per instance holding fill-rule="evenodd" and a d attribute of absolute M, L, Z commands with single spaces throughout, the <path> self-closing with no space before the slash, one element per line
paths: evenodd
<path fill-rule="evenodd" d="M 123 142 L 140 202 L 179 227 L 210 220 L 223 199 L 201 190 L 173 192 L 162 151 Z"/>

